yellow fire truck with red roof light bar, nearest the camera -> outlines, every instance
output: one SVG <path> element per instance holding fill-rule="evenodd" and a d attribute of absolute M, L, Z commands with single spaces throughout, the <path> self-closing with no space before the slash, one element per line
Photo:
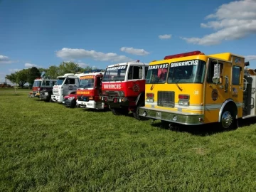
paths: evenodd
<path fill-rule="evenodd" d="M 168 55 L 149 63 L 145 106 L 139 115 L 177 124 L 219 122 L 238 127 L 238 118 L 255 117 L 255 74 L 233 53 L 201 51 Z"/>

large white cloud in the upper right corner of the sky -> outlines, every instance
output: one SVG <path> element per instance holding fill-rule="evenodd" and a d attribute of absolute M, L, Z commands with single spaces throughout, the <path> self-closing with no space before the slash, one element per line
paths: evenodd
<path fill-rule="evenodd" d="M 210 46 L 218 45 L 222 41 L 245 38 L 256 33 L 256 1 L 232 1 L 218 7 L 215 14 L 206 16 L 215 21 L 201 23 L 202 28 L 213 28 L 214 33 L 202 38 L 183 38 L 187 43 Z"/>

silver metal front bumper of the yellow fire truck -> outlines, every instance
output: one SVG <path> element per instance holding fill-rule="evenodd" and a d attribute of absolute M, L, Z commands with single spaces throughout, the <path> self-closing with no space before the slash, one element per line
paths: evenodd
<path fill-rule="evenodd" d="M 203 114 L 170 112 L 169 110 L 151 109 L 149 107 L 139 107 L 139 116 L 149 119 L 160 119 L 166 122 L 189 125 L 203 124 L 204 119 Z"/>

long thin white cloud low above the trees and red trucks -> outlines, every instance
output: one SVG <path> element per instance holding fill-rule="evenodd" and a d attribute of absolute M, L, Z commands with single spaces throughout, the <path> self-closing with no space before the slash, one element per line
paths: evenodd
<path fill-rule="evenodd" d="M 93 60 L 100 61 L 112 61 L 112 62 L 127 62 L 131 61 L 124 55 L 117 55 L 117 53 L 102 53 L 95 50 L 85 50 L 82 48 L 62 48 L 56 52 L 57 57 L 63 59 L 81 59 L 81 58 L 91 58 Z"/>

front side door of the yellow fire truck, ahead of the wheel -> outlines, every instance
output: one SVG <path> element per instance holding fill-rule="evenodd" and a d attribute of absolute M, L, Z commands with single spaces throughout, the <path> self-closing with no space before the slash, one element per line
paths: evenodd
<path fill-rule="evenodd" d="M 231 63 L 209 59 L 203 110 L 205 122 L 218 122 L 220 107 L 230 98 Z"/>

